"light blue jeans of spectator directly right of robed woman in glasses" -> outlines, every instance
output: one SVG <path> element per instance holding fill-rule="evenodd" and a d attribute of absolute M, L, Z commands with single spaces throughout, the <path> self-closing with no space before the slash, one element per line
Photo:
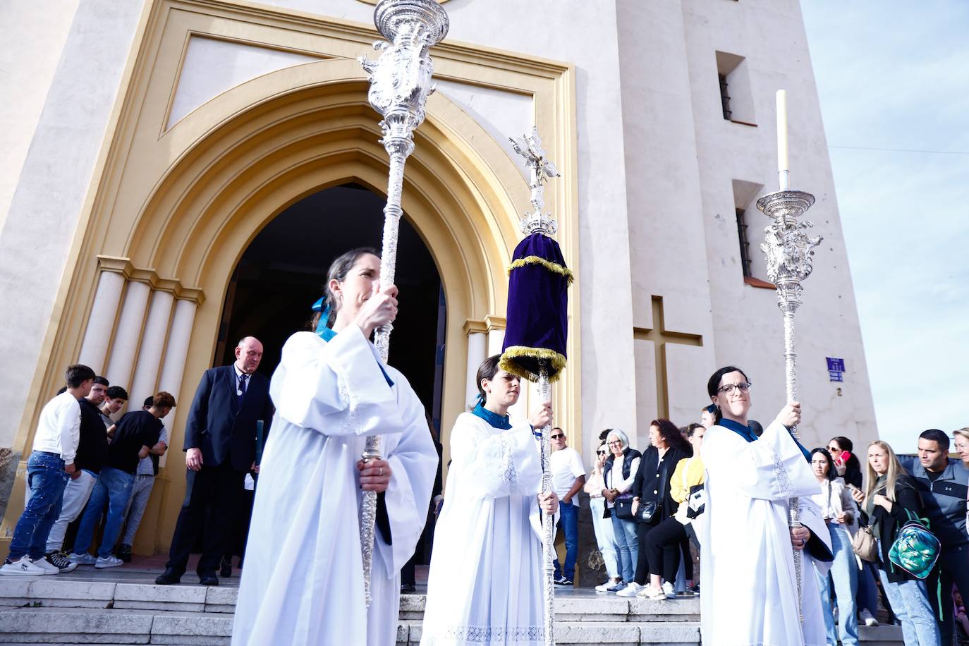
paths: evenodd
<path fill-rule="evenodd" d="M 838 622 L 841 629 L 842 646 L 858 646 L 858 615 L 855 612 L 855 593 L 858 590 L 858 566 L 855 552 L 851 548 L 851 537 L 844 525 L 829 523 L 831 551 L 831 576 L 818 574 L 818 587 L 821 590 L 821 609 L 825 615 L 825 628 L 828 631 L 828 644 L 836 646 L 837 634 L 834 631 L 834 613 L 831 610 L 831 586 L 837 596 Z"/>

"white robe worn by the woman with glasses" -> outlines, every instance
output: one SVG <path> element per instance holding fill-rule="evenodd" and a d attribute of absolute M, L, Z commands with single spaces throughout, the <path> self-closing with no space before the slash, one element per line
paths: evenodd
<path fill-rule="evenodd" d="M 803 630 L 797 616 L 789 498 L 800 498 L 800 522 L 830 552 L 828 528 L 811 500 L 818 480 L 804 454 L 779 422 L 752 443 L 713 426 L 703 436 L 701 452 L 707 500 L 695 527 L 704 646 L 824 646 L 814 570 L 827 574 L 830 563 L 812 558 L 807 549 L 802 551 Z"/>

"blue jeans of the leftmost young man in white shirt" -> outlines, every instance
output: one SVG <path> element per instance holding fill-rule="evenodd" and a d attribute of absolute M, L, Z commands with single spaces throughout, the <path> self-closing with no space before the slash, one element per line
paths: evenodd
<path fill-rule="evenodd" d="M 34 561 L 44 558 L 47 535 L 64 500 L 64 488 L 71 477 L 64 471 L 60 455 L 34 451 L 27 459 L 27 501 L 20 519 L 16 521 L 14 538 L 10 542 L 10 560 L 29 556 Z"/>

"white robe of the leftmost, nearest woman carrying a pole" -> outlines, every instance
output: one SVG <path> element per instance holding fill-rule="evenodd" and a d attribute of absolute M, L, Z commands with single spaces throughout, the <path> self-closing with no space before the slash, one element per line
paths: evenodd
<path fill-rule="evenodd" d="M 421 401 L 379 367 L 357 326 L 325 342 L 297 332 L 269 394 L 276 406 L 263 455 L 233 627 L 234 646 L 396 642 L 400 568 L 424 526 L 437 451 Z M 372 603 L 363 600 L 357 462 L 383 436 L 392 545 L 376 531 Z"/>

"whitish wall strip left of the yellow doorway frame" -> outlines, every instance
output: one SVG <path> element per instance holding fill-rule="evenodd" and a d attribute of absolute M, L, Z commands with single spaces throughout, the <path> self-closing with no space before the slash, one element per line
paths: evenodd
<path fill-rule="evenodd" d="M 134 1 L 76 5 L 0 233 L 0 446 L 14 440 L 142 9 Z"/>

